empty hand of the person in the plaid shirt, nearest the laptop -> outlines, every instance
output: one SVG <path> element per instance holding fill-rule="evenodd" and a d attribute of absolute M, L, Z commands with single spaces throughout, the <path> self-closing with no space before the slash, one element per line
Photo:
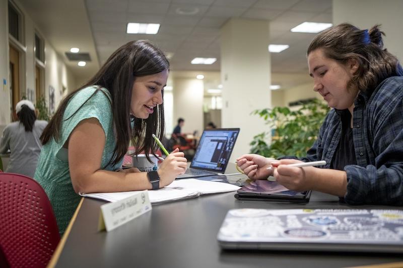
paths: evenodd
<path fill-rule="evenodd" d="M 271 163 L 277 161 L 258 154 L 244 154 L 236 160 L 236 164 L 252 180 L 265 180 L 268 176 L 273 176 L 273 168 L 267 169 L 267 167 L 271 167 Z"/>

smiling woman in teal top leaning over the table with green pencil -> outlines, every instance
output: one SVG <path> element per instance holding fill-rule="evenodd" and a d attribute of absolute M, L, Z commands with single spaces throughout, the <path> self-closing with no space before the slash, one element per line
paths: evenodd
<path fill-rule="evenodd" d="M 177 149 L 158 171 L 121 169 L 130 140 L 133 155 L 155 155 L 152 134 L 159 139 L 164 134 L 168 73 L 161 50 L 148 41 L 131 41 L 60 103 L 41 136 L 34 176 L 50 199 L 60 233 L 80 202 L 79 193 L 156 190 L 185 172 L 187 160 Z"/>

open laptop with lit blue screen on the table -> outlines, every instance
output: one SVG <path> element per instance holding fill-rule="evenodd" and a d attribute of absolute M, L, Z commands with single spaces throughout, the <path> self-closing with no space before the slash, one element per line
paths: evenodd
<path fill-rule="evenodd" d="M 205 129 L 201 134 L 190 167 L 177 178 L 224 173 L 238 134 L 239 128 Z"/>

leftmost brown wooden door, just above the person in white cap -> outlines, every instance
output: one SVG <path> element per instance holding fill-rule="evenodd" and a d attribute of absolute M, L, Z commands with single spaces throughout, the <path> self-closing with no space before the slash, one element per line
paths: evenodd
<path fill-rule="evenodd" d="M 18 50 L 10 46 L 10 105 L 12 121 L 15 121 L 15 107 L 20 101 L 20 55 Z"/>

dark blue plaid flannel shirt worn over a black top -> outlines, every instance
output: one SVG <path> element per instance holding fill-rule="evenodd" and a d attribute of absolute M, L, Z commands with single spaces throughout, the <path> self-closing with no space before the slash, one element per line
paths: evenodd
<path fill-rule="evenodd" d="M 325 160 L 337 150 L 340 111 L 326 116 L 319 137 L 302 161 Z M 346 165 L 348 204 L 403 205 L 403 77 L 383 80 L 371 95 L 360 93 L 353 114 L 357 165 Z"/>

